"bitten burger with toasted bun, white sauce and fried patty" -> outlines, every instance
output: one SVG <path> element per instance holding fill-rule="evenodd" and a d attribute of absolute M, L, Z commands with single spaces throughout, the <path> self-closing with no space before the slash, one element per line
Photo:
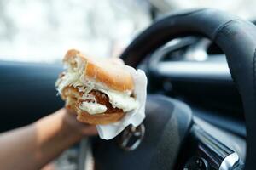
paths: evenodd
<path fill-rule="evenodd" d="M 79 122 L 118 122 L 137 108 L 133 78 L 125 65 L 91 59 L 75 49 L 67 51 L 63 63 L 67 69 L 55 86 L 66 107 L 77 113 Z"/>

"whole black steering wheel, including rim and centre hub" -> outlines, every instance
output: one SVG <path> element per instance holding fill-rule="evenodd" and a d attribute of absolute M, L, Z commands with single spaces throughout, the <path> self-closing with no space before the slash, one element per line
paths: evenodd
<path fill-rule="evenodd" d="M 154 22 L 125 49 L 121 58 L 125 64 L 137 67 L 157 48 L 177 37 L 207 37 L 221 48 L 227 58 L 230 73 L 238 88 L 244 107 L 247 127 L 247 156 L 245 169 L 254 169 L 256 161 L 256 27 L 240 18 L 217 9 L 202 8 L 171 14 Z M 123 150 L 118 138 L 102 141 L 94 139 L 93 151 L 96 169 L 231 169 L 237 156 L 224 144 L 212 139 L 192 120 L 189 106 L 160 95 L 148 95 L 146 105 L 145 135 L 136 150 Z M 120 134 L 122 135 L 122 134 Z M 194 157 L 184 165 L 178 155 L 183 144 L 194 138 L 200 141 L 199 153 L 210 154 L 209 160 Z M 189 143 L 192 144 L 192 143 Z M 188 146 L 186 146 L 188 148 Z M 191 149 L 191 148 L 190 148 Z M 213 154 L 212 151 L 213 150 Z M 212 154 L 212 155 L 211 155 Z M 195 161 L 196 160 L 196 161 Z M 193 162 L 192 162 L 193 161 Z M 195 162 L 194 162 L 195 161 Z M 208 161 L 208 163 L 206 162 Z M 191 163 L 192 162 L 192 163 Z M 187 167 L 186 167 L 187 166 Z M 192 166 L 192 167 L 191 167 Z M 215 166 L 215 167 L 214 167 Z M 230 167 L 231 166 L 231 167 Z M 199 168 L 200 169 L 200 168 Z"/>

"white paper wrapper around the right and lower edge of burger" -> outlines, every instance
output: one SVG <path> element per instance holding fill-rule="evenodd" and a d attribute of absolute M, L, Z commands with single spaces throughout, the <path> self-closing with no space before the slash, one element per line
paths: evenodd
<path fill-rule="evenodd" d="M 125 65 L 125 69 L 131 72 L 135 84 L 134 94 L 139 103 L 136 110 L 127 112 L 119 121 L 108 125 L 97 125 L 97 130 L 101 139 L 113 139 L 130 124 L 134 127 L 140 125 L 145 118 L 145 105 L 147 98 L 147 77 L 142 70 L 135 70 L 131 66 Z"/>

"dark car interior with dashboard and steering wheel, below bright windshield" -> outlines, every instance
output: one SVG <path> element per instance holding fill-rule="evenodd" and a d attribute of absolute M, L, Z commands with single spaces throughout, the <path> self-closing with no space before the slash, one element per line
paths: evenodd
<path fill-rule="evenodd" d="M 151 15 L 159 14 L 151 8 Z M 252 21 L 213 8 L 155 17 L 119 54 L 148 77 L 143 124 L 127 127 L 129 137 L 123 132 L 110 140 L 83 139 L 70 149 L 75 158 L 66 163 L 76 165 L 70 169 L 90 169 L 91 161 L 99 170 L 254 169 Z M 55 90 L 62 70 L 61 63 L 0 61 L 0 131 L 63 107 Z"/>

